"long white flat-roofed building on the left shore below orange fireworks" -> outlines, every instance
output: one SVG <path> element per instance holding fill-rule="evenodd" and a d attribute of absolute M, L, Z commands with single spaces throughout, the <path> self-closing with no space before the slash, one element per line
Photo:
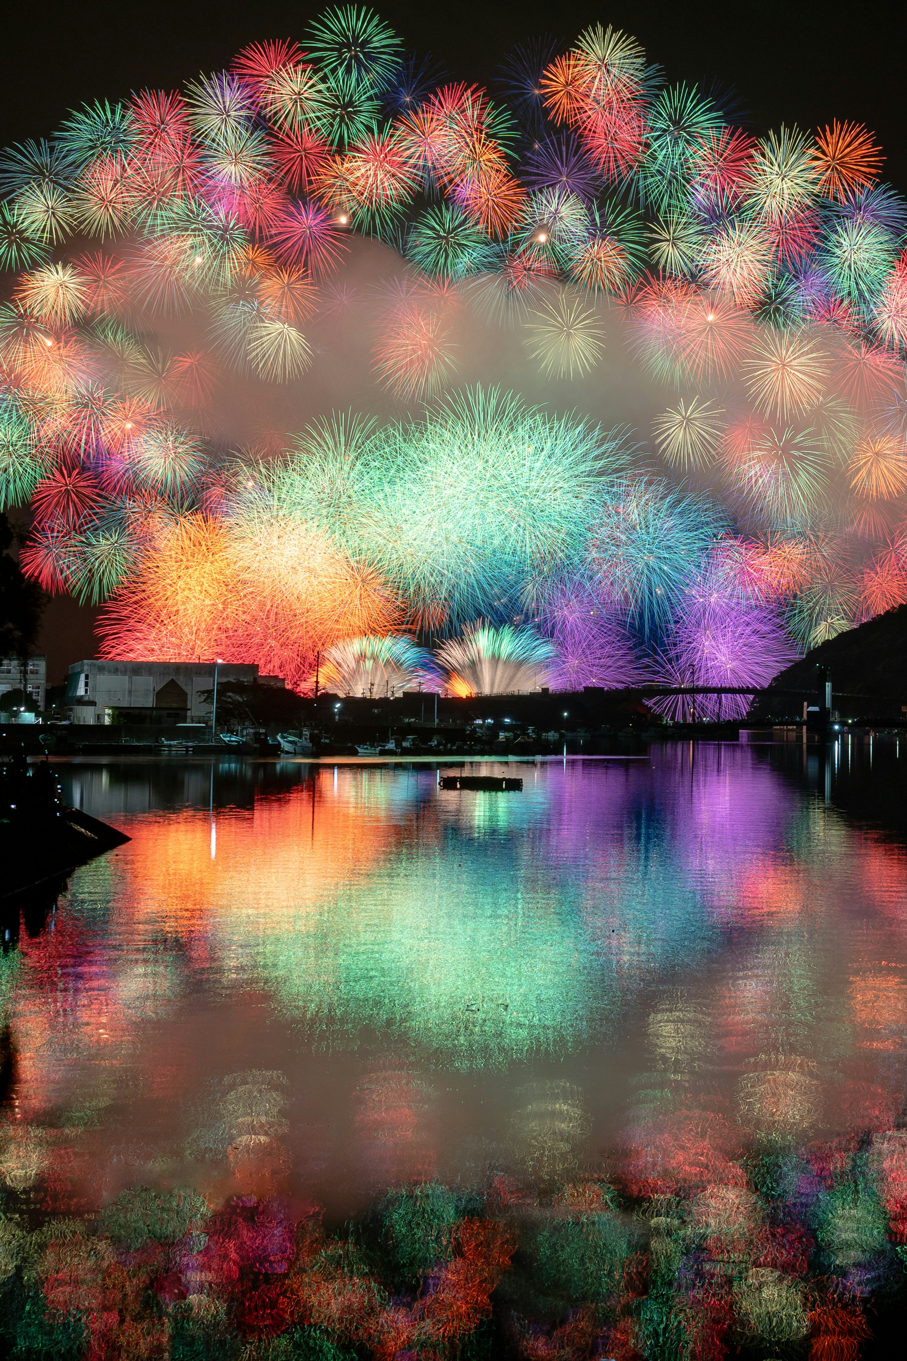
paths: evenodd
<path fill-rule="evenodd" d="M 213 661 L 73 661 L 67 676 L 67 709 L 73 723 L 208 723 Z M 258 679 L 257 666 L 218 663 L 218 685 Z M 268 680 L 273 683 L 269 676 Z"/>

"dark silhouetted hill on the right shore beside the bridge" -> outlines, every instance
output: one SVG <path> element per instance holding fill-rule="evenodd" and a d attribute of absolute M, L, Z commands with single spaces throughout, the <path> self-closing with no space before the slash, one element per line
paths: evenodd
<path fill-rule="evenodd" d="M 842 719 L 907 719 L 902 712 L 902 705 L 907 706 L 907 604 L 810 648 L 775 676 L 756 701 L 753 717 L 801 717 L 802 700 L 772 691 L 815 691 L 816 667 L 831 672 L 834 705 Z"/>

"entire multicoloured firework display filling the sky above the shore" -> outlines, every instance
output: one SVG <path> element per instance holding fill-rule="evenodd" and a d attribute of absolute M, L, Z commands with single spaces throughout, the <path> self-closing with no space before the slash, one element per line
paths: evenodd
<path fill-rule="evenodd" d="M 484 621 L 562 680 L 711 675 L 703 629 L 737 630 L 714 674 L 760 685 L 907 599 L 907 203 L 872 133 L 751 136 L 601 26 L 502 91 L 341 5 L 0 154 L 0 506 L 106 655 L 306 690 L 349 640 Z M 753 593 L 768 559 L 800 569 Z"/>

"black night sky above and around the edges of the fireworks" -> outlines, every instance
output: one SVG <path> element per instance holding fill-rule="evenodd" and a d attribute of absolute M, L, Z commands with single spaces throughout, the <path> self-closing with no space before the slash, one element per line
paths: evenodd
<path fill-rule="evenodd" d="M 324 4 L 212 0 L 69 0 L 8 5 L 0 44 L 0 143 L 50 132 L 84 99 L 121 98 L 144 86 L 175 87 L 224 67 L 245 44 L 302 38 Z M 548 3 L 378 0 L 408 48 L 431 52 L 454 79 L 495 79 L 519 41 L 572 39 L 590 23 L 635 34 L 670 80 L 732 87 L 757 133 L 779 122 L 815 128 L 851 118 L 872 128 L 887 155 L 884 177 L 907 192 L 903 76 L 904 4 Z M 92 655 L 92 612 L 54 602 L 42 646 L 49 674 Z"/>

